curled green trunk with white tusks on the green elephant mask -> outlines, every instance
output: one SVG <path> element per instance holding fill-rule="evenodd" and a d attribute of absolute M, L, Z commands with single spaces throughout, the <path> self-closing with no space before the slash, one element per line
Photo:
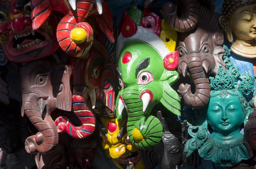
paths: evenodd
<path fill-rule="evenodd" d="M 128 113 L 127 132 L 131 143 L 140 149 L 152 149 L 160 143 L 163 127 L 156 117 L 145 113 L 150 100 L 145 98 L 148 96 L 145 91 L 139 95 L 137 89 L 125 89 L 122 97 L 119 96 L 119 104 L 124 104 Z"/>

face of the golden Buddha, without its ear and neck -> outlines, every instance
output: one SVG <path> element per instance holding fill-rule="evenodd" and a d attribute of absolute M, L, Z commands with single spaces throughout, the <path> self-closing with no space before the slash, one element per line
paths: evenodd
<path fill-rule="evenodd" d="M 256 38 L 256 3 L 237 9 L 229 20 L 232 32 L 237 40 Z"/>

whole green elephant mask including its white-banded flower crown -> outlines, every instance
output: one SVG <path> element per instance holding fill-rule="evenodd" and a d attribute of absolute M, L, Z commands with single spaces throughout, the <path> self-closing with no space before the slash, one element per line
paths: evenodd
<path fill-rule="evenodd" d="M 160 38 L 161 20 L 156 14 L 132 6 L 123 17 L 116 51 L 120 84 L 116 117 L 118 121 L 128 117 L 127 132 L 132 144 L 151 149 L 163 135 L 160 121 L 150 115 L 153 107 L 162 103 L 180 115 L 180 98 L 170 86 L 178 78 L 178 53 L 170 52 Z"/>

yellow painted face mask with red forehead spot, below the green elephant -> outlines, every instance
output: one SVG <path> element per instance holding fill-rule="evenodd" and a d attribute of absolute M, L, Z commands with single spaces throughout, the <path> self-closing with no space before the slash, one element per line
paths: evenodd
<path fill-rule="evenodd" d="M 140 150 L 131 144 L 126 131 L 126 122 L 118 122 L 116 118 L 100 117 L 107 134 L 101 132 L 102 147 L 108 150 L 109 156 L 119 169 L 133 165 L 133 169 L 144 169 Z"/>

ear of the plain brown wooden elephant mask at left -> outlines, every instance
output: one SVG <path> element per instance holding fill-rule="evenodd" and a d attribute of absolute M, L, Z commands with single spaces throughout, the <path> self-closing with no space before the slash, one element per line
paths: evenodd
<path fill-rule="evenodd" d="M 72 93 L 70 88 L 71 67 L 59 64 L 55 68 L 53 94 L 56 97 L 57 109 L 71 111 Z"/>

